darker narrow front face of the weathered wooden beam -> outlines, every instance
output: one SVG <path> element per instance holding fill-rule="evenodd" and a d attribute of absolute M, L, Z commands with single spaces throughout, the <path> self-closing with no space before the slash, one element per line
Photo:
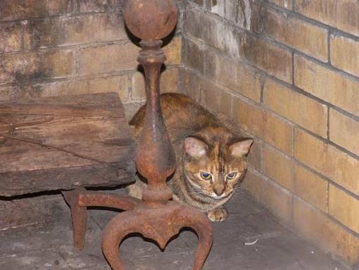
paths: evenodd
<path fill-rule="evenodd" d="M 0 173 L 0 196 L 71 190 L 78 186 L 111 187 L 132 182 L 134 173 L 134 163 L 127 159 L 112 164 Z"/>

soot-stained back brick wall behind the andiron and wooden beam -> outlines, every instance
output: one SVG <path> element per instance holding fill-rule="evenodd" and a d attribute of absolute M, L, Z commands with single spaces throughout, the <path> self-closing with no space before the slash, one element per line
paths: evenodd
<path fill-rule="evenodd" d="M 118 92 L 125 104 L 143 102 L 138 40 L 125 30 L 124 3 L 1 0 L 0 99 Z M 164 47 L 164 92 L 177 91 L 181 44 L 179 30 Z"/>

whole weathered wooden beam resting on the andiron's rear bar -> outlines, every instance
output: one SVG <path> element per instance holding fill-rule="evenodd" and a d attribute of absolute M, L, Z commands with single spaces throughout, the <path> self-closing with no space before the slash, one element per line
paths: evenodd
<path fill-rule="evenodd" d="M 0 196 L 119 185 L 134 173 L 118 94 L 0 102 Z"/>

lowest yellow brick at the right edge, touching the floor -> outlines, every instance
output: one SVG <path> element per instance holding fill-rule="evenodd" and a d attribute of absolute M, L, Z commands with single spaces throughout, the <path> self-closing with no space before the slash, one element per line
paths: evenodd
<path fill-rule="evenodd" d="M 359 262 L 359 238 L 302 200 L 294 200 L 293 225 L 296 231 L 323 250 L 338 255 L 349 264 Z"/>

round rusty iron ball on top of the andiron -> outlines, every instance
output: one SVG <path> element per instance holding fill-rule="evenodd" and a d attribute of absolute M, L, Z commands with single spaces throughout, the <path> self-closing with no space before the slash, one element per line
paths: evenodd
<path fill-rule="evenodd" d="M 125 23 L 140 39 L 163 39 L 175 28 L 177 6 L 172 0 L 128 0 Z"/>

